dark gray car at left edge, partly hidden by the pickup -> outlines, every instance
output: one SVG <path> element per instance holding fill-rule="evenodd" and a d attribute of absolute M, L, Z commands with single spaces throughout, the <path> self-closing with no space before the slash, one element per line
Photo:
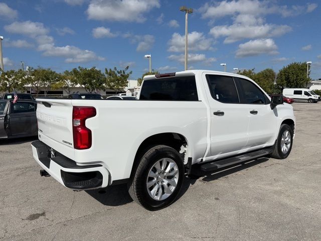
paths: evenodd
<path fill-rule="evenodd" d="M 38 135 L 34 100 L 0 100 L 0 139 Z"/>

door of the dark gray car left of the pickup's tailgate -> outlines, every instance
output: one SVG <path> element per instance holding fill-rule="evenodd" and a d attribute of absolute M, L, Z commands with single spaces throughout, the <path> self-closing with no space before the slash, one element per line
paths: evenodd
<path fill-rule="evenodd" d="M 32 133 L 32 119 L 36 118 L 35 103 L 18 101 L 11 102 L 9 113 L 9 129 L 12 136 Z"/>

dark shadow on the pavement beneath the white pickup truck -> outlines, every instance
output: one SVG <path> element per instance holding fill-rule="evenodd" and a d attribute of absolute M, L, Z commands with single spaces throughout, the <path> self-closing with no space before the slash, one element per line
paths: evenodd
<path fill-rule="evenodd" d="M 184 195 L 184 193 L 187 192 L 189 187 L 191 185 L 195 184 L 195 182 L 198 179 L 200 179 L 204 182 L 214 181 L 216 179 L 228 176 L 228 175 L 233 174 L 235 172 L 238 172 L 238 171 L 250 168 L 252 166 L 261 164 L 261 163 L 266 162 L 268 160 L 269 160 L 268 158 L 262 157 L 262 158 L 254 159 L 252 161 L 249 161 L 249 162 L 246 162 L 243 164 L 237 164 L 234 166 L 222 168 L 214 173 L 207 173 L 204 175 L 200 174 L 201 175 L 200 177 L 193 176 L 191 178 L 185 178 L 185 181 L 184 181 L 182 189 L 179 193 L 178 199 L 180 199 Z M 99 201 L 100 203 L 102 203 L 103 205 L 106 205 L 106 206 L 120 206 L 120 205 L 124 205 L 124 204 L 130 203 L 133 201 L 128 194 L 127 184 L 109 186 L 104 189 L 88 190 L 86 192 L 90 196 L 95 198 L 97 201 Z"/>

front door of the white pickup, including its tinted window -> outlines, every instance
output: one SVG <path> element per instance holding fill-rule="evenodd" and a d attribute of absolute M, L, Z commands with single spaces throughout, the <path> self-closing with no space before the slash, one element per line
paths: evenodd
<path fill-rule="evenodd" d="M 241 103 L 247 104 L 249 114 L 246 148 L 272 143 L 277 126 L 276 110 L 271 109 L 270 100 L 256 84 L 242 78 L 237 81 Z"/>

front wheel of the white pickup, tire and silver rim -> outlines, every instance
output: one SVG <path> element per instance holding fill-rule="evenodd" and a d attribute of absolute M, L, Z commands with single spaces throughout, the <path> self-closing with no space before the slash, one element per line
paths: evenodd
<path fill-rule="evenodd" d="M 276 142 L 273 146 L 273 152 L 270 154 L 275 159 L 285 159 L 291 152 L 293 144 L 293 130 L 289 125 L 282 124 Z"/>

